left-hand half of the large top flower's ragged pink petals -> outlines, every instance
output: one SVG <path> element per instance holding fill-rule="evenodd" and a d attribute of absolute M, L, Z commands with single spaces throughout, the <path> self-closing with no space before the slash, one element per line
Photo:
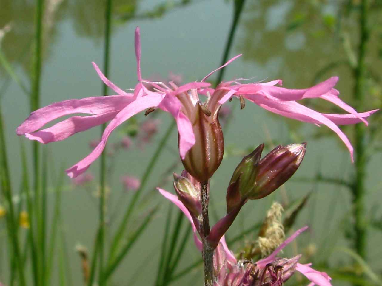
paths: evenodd
<path fill-rule="evenodd" d="M 115 128 L 131 116 L 144 111 L 145 109 L 160 108 L 172 114 L 176 120 L 179 132 L 180 156 L 184 158 L 187 151 L 194 145 L 195 137 L 192 131 L 191 122 L 185 114 L 181 112 L 182 104 L 176 95 L 191 88 L 208 87 L 210 84 L 205 82 L 191 82 L 179 87 L 178 90 L 172 90 L 170 93 L 163 92 L 163 88 L 160 88 L 161 91 L 159 92 L 151 92 L 142 84 L 140 64 L 141 44 L 138 27 L 135 31 L 135 53 L 137 58 L 139 83 L 134 88 L 134 93 L 127 93 L 117 87 L 108 80 L 104 74 L 102 74 L 98 66 L 93 63 L 94 69 L 99 77 L 108 87 L 112 88 L 117 95 L 88 97 L 79 100 L 65 100 L 50 104 L 49 106 L 45 106 L 32 112 L 16 129 L 16 133 L 18 135 L 24 134 L 31 140 L 37 140 L 46 144 L 53 141 L 64 140 L 77 132 L 82 132 L 91 127 L 110 121 L 102 135 L 100 143 L 93 149 L 93 151 L 77 164 L 66 170 L 69 177 L 73 178 L 84 173 L 92 162 L 100 156 L 105 148 L 108 137 Z M 156 84 L 153 85 L 156 86 Z M 86 113 L 91 115 L 73 116 L 62 122 L 58 122 L 52 127 L 36 131 L 50 121 L 75 113 Z"/>

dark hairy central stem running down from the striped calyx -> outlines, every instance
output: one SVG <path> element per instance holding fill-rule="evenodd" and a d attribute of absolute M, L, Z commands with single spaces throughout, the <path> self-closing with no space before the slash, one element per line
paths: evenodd
<path fill-rule="evenodd" d="M 200 182 L 202 192 L 202 242 L 203 242 L 203 262 L 204 262 L 204 286 L 212 286 L 214 276 L 213 255 L 214 249 L 209 245 L 207 236 L 210 234 L 210 222 L 208 218 L 208 193 L 209 182 Z"/>

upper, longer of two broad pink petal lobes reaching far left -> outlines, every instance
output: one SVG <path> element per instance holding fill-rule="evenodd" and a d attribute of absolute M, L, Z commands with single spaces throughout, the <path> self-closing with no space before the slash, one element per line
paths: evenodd
<path fill-rule="evenodd" d="M 17 135 L 31 133 L 48 122 L 73 113 L 101 114 L 120 111 L 131 103 L 132 98 L 124 95 L 86 97 L 56 102 L 31 112 L 16 129 Z"/>

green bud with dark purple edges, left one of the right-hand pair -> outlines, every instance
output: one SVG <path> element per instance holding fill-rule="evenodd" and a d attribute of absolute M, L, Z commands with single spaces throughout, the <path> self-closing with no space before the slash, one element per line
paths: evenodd
<path fill-rule="evenodd" d="M 227 189 L 227 212 L 242 204 L 253 192 L 263 149 L 264 144 L 259 145 L 241 160 L 233 172 Z"/>

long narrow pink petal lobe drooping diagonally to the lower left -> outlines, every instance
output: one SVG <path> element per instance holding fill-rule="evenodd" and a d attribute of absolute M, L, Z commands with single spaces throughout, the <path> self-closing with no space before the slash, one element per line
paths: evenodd
<path fill-rule="evenodd" d="M 109 96 L 105 96 L 103 99 L 105 100 L 108 97 Z M 102 134 L 101 141 L 97 145 L 97 147 L 95 147 L 94 150 L 84 159 L 79 161 L 73 167 L 66 170 L 68 176 L 71 178 L 75 178 L 78 175 L 85 172 L 87 168 L 89 168 L 90 164 L 92 164 L 92 162 L 94 162 L 95 159 L 97 159 L 100 156 L 100 154 L 105 148 L 106 141 L 109 135 L 115 128 L 118 127 L 118 125 L 120 125 L 121 123 L 129 119 L 131 116 L 137 114 L 138 112 L 141 112 L 144 109 L 159 105 L 160 101 L 162 101 L 162 95 L 144 96 L 142 98 L 137 99 L 136 101 L 133 101 L 128 106 L 123 108 L 107 125 L 104 133 Z"/>

